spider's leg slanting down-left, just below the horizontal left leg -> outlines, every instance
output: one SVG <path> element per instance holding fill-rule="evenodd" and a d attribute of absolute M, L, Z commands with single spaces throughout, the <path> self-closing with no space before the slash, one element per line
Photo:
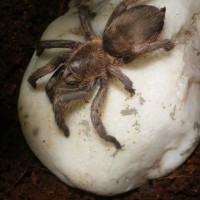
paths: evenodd
<path fill-rule="evenodd" d="M 33 72 L 33 74 L 29 76 L 28 82 L 32 85 L 32 87 L 36 88 L 36 81 L 39 78 L 56 70 L 59 67 L 59 65 L 65 62 L 67 59 L 69 59 L 69 57 L 70 54 L 67 53 L 56 56 L 49 63 Z"/>

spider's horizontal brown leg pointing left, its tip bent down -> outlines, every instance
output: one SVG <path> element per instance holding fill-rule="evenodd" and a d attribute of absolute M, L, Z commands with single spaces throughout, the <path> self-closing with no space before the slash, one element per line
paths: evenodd
<path fill-rule="evenodd" d="M 37 56 L 40 56 L 44 49 L 50 48 L 68 48 L 77 49 L 82 43 L 73 40 L 41 40 L 36 47 Z"/>

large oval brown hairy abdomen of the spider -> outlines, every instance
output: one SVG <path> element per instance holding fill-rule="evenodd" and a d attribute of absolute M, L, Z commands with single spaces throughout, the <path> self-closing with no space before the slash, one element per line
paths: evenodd
<path fill-rule="evenodd" d="M 140 5 L 117 16 L 104 31 L 103 45 L 116 57 L 134 57 L 134 45 L 153 42 L 162 31 L 165 8 Z"/>

